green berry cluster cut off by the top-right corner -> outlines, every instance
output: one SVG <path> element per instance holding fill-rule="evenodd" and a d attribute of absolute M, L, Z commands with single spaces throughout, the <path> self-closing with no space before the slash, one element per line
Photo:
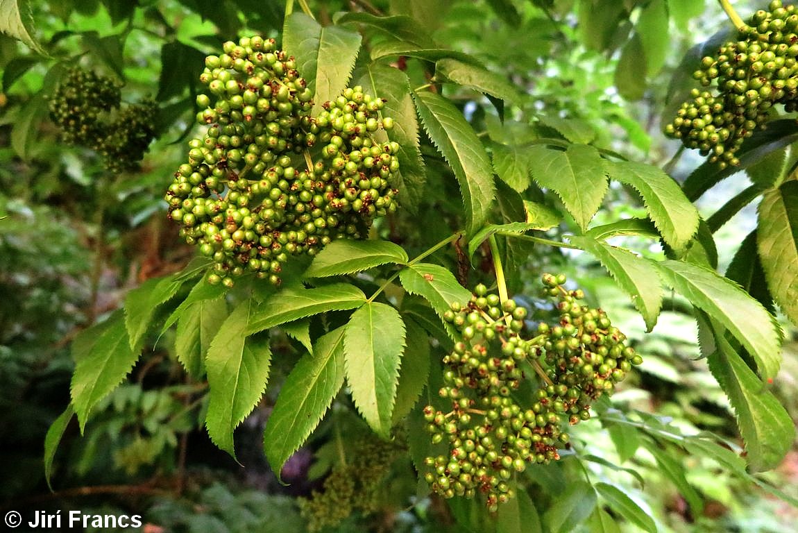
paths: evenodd
<path fill-rule="evenodd" d="M 740 161 L 735 153 L 743 140 L 768 121 L 773 105 L 798 109 L 798 13 L 795 6 L 770 2 L 758 10 L 737 41 L 721 46 L 715 56 L 701 60 L 694 74 L 701 85 L 717 84 L 719 94 L 693 89 L 673 122 L 669 136 L 687 148 L 719 162 L 721 168 Z"/>

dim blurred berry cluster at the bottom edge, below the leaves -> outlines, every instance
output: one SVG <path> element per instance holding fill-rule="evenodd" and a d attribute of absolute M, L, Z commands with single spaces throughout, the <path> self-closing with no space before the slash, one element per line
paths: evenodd
<path fill-rule="evenodd" d="M 322 491 L 298 500 L 311 533 L 337 526 L 354 512 L 368 515 L 377 511 L 382 481 L 401 448 L 369 437 L 358 439 L 353 448 L 350 462 L 333 468 Z"/>

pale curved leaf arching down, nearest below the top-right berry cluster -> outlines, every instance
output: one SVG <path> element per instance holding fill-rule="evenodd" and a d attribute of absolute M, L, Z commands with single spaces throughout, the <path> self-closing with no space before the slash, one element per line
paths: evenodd
<path fill-rule="evenodd" d="M 649 164 L 622 161 L 608 163 L 606 168 L 610 178 L 630 185 L 640 193 L 662 239 L 674 251 L 681 253 L 698 229 L 698 211 L 678 184 Z"/>

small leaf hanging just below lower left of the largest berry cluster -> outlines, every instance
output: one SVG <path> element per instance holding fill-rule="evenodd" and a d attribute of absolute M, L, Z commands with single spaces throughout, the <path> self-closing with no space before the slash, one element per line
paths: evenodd
<path fill-rule="evenodd" d="M 175 354 L 189 376 L 205 373 L 205 354 L 219 327 L 227 318 L 224 298 L 199 300 L 180 315 L 175 333 Z"/>

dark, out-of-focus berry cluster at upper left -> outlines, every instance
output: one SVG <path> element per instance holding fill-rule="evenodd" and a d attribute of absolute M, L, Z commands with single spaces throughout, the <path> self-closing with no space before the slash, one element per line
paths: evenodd
<path fill-rule="evenodd" d="M 55 89 L 49 111 L 61 128 L 61 140 L 91 148 L 103 156 L 105 168 L 136 168 L 155 136 L 158 106 L 145 99 L 121 105 L 121 85 L 88 70 L 73 68 Z"/>

